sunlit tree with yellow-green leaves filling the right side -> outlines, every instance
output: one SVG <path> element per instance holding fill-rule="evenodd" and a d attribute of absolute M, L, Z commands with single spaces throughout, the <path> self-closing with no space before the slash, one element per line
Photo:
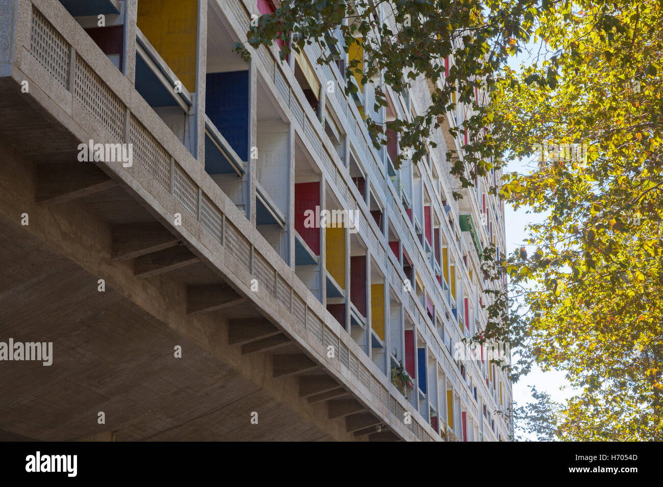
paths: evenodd
<path fill-rule="evenodd" d="M 507 262 L 520 367 L 581 390 L 562 439 L 663 439 L 662 23 L 653 0 L 550 5 L 538 62 L 495 91 L 496 144 L 537 164 L 503 194 L 546 215 Z"/>

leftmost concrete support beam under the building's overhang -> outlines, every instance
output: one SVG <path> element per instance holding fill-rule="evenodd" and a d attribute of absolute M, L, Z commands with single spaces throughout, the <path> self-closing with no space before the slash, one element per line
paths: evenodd
<path fill-rule="evenodd" d="M 37 166 L 37 203 L 64 203 L 88 196 L 117 183 L 91 162 L 40 164 Z"/>

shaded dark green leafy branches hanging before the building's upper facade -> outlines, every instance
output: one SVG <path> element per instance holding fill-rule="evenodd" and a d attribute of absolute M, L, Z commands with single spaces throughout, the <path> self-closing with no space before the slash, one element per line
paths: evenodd
<path fill-rule="evenodd" d="M 278 39 L 284 44 L 283 60 L 292 50 L 316 43 L 323 51 L 318 63 L 330 64 L 335 53 L 347 53 L 361 43 L 366 61 L 349 60 L 345 76 L 375 85 L 375 111 L 387 106 L 385 85 L 399 92 L 412 80 L 426 79 L 432 95 L 422 115 L 387 123 L 369 118 L 367 128 L 377 148 L 387 144 L 387 131 L 394 131 L 400 146 L 410 149 L 394 160 L 396 168 L 406 158 L 422 160 L 426 142 L 436 147 L 434 129 L 443 127 L 454 137 L 459 131 L 463 138 L 467 134 L 463 157 L 454 148 L 446 154 L 453 158 L 452 174 L 459 178 L 459 188 L 467 188 L 475 176 L 485 176 L 494 167 L 489 162 L 494 148 L 486 131 L 491 116 L 477 103 L 477 92 L 487 89 L 518 42 L 530 36 L 537 13 L 535 0 L 284 0 L 274 13 L 258 19 L 247 32 L 247 42 L 238 42 L 235 50 L 249 59 L 246 44 L 258 48 Z M 450 58 L 455 62 L 448 64 L 446 73 L 445 60 Z M 357 87 L 348 83 L 345 91 L 349 95 Z M 444 115 L 458 102 L 473 106 L 475 115 L 459 128 L 445 126 Z"/>

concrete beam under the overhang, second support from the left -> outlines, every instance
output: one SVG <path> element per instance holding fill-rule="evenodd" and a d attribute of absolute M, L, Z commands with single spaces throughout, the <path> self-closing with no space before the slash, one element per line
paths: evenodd
<path fill-rule="evenodd" d="M 129 260 L 175 246 L 178 240 L 160 223 L 113 225 L 113 260 Z"/>

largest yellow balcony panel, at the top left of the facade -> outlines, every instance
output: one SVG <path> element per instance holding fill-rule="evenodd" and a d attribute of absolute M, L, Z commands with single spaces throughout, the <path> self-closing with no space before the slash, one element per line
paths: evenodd
<path fill-rule="evenodd" d="M 141 0 L 137 23 L 182 85 L 196 91 L 198 0 Z"/>

